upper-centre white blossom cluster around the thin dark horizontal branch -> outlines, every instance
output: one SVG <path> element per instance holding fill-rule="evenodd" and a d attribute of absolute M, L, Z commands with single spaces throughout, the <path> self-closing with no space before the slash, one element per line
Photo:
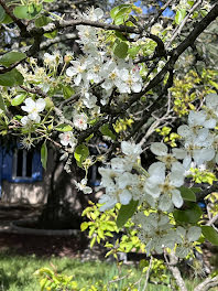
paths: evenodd
<path fill-rule="evenodd" d="M 101 9 L 92 9 L 85 18 L 94 21 L 103 15 Z M 101 30 L 77 25 L 79 41 L 84 55 L 77 61 L 70 61 L 72 66 L 66 69 L 66 75 L 73 78 L 74 85 L 80 90 L 81 100 L 87 108 L 96 107 L 97 97 L 91 93 L 92 84 L 100 84 L 105 96 L 101 104 L 108 101 L 112 89 L 117 88 L 122 94 L 139 93 L 142 89 L 142 78 L 139 66 L 132 61 L 115 57 L 103 42 L 100 42 Z"/>

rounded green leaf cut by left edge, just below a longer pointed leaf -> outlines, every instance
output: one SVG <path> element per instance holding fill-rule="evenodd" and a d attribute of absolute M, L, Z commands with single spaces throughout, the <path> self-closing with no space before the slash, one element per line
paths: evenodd
<path fill-rule="evenodd" d="M 23 84 L 23 76 L 17 68 L 13 68 L 12 71 L 7 72 L 4 74 L 0 74 L 1 86 L 14 86 L 22 84 Z"/>

